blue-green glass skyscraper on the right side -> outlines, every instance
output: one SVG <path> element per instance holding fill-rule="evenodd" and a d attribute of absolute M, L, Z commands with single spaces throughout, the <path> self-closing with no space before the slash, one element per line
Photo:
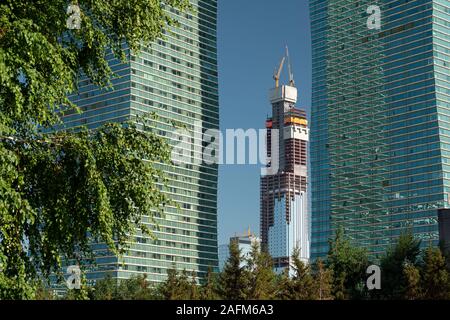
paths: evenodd
<path fill-rule="evenodd" d="M 312 257 L 340 227 L 375 257 L 408 231 L 436 245 L 450 207 L 450 3 L 310 0 L 310 14 Z"/>

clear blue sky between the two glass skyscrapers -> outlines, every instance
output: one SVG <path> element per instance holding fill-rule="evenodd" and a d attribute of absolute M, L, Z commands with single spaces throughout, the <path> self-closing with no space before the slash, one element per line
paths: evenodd
<path fill-rule="evenodd" d="M 289 46 L 298 107 L 311 103 L 308 0 L 219 0 L 218 55 L 221 130 L 264 128 L 271 112 L 272 75 Z M 219 244 L 249 226 L 259 234 L 260 166 L 222 165 Z"/>

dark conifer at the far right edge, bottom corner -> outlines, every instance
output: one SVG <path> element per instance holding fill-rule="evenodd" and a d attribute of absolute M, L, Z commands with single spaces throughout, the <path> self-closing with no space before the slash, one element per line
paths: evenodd
<path fill-rule="evenodd" d="M 450 298 L 450 275 L 439 248 L 429 247 L 424 252 L 422 289 L 424 299 Z"/>

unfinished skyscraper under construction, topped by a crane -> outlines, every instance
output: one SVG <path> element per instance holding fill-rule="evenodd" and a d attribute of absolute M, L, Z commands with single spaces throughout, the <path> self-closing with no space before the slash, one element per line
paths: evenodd
<path fill-rule="evenodd" d="M 270 90 L 272 117 L 266 121 L 268 164 L 261 176 L 261 240 L 278 272 L 289 267 L 296 247 L 302 260 L 308 260 L 310 245 L 308 121 L 305 111 L 295 107 L 297 88 L 290 64 L 289 85 L 279 85 L 285 60 L 275 73 L 275 88 Z"/>

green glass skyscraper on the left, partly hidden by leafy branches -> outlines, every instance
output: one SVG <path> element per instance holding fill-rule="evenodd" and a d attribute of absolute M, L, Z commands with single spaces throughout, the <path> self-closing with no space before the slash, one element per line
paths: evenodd
<path fill-rule="evenodd" d="M 190 132 L 197 123 L 203 130 L 218 129 L 217 1 L 191 3 L 194 10 L 188 13 L 167 8 L 180 25 L 137 55 L 128 50 L 128 63 L 110 56 L 117 75 L 114 90 L 99 90 L 80 79 L 79 94 L 72 101 L 83 113 L 65 115 L 65 128 L 95 129 L 106 122 L 155 112 L 159 116 L 155 130 L 169 140 L 172 120 Z M 201 141 L 194 143 L 199 145 L 190 152 L 201 159 Z M 170 179 L 169 196 L 180 208 L 167 207 L 165 217 L 157 219 L 157 239 L 134 235 L 129 252 L 120 259 L 105 246 L 95 245 L 97 265 L 88 279 L 103 278 L 106 273 L 116 278 L 147 274 L 151 281 L 163 281 L 174 265 L 201 278 L 209 266 L 217 268 L 218 168 L 198 163 L 164 168 Z"/>

